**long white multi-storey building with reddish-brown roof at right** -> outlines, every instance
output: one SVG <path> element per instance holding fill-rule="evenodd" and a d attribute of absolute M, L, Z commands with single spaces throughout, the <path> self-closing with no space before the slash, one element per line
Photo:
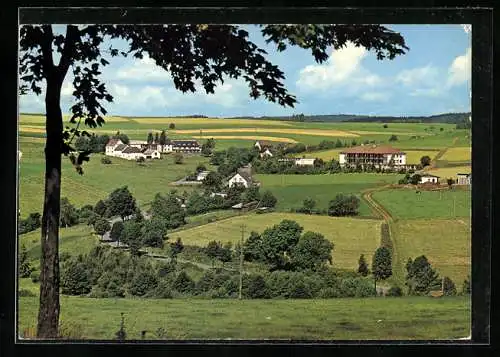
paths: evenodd
<path fill-rule="evenodd" d="M 345 165 L 406 166 L 406 153 L 391 146 L 362 145 L 344 149 L 339 163 Z"/>

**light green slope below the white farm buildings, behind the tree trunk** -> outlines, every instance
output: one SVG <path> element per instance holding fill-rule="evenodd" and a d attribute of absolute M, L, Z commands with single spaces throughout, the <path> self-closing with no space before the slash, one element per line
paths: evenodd
<path fill-rule="evenodd" d="M 31 212 L 41 212 L 43 202 L 44 158 L 43 144 L 39 139 L 19 138 L 23 153 L 19 170 L 19 205 L 21 217 Z M 174 187 L 172 181 L 192 173 L 199 163 L 208 165 L 208 159 L 202 156 L 185 156 L 184 164 L 176 165 L 172 157 L 147 162 L 144 166 L 134 161 L 111 158 L 112 164 L 101 163 L 101 155 L 94 154 L 84 165 L 84 175 L 79 175 L 69 160 L 63 157 L 62 196 L 67 196 L 71 203 L 80 207 L 95 204 L 106 198 L 114 189 L 127 185 L 140 205 L 152 200 L 158 192 L 167 193 Z M 181 190 L 189 191 L 183 187 Z"/>

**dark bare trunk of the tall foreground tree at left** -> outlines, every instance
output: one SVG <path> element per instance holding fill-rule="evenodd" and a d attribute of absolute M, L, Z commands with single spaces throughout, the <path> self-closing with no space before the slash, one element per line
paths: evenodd
<path fill-rule="evenodd" d="M 59 327 L 59 218 L 61 201 L 62 80 L 47 78 L 45 96 L 45 196 L 42 215 L 38 338 L 56 338 Z"/>

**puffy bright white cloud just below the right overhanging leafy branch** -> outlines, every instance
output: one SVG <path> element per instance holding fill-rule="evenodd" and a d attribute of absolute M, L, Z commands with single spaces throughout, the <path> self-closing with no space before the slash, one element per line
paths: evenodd
<path fill-rule="evenodd" d="M 382 79 L 361 65 L 367 53 L 365 48 L 348 43 L 346 47 L 332 51 L 324 64 L 308 65 L 300 70 L 296 85 L 311 90 L 380 84 Z"/>

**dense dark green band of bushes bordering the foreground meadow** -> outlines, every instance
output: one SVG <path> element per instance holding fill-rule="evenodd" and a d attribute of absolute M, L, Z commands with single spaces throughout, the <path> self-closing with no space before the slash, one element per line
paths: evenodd
<path fill-rule="evenodd" d="M 224 251 L 218 243 L 209 246 L 214 252 L 218 251 L 219 256 Z M 160 263 L 109 247 L 96 247 L 87 255 L 62 262 L 61 286 L 63 294 L 99 298 L 195 295 L 236 298 L 239 273 L 209 269 L 195 281 L 179 263 Z M 359 275 L 339 275 L 331 269 L 320 268 L 245 274 L 242 295 L 250 299 L 367 297 L 374 296 L 375 290 L 369 280 Z"/>

